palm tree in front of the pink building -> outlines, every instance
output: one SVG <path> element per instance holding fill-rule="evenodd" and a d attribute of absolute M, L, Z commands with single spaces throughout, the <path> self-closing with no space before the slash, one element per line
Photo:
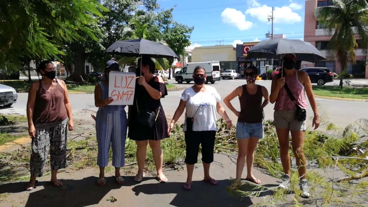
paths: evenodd
<path fill-rule="evenodd" d="M 367 52 L 368 3 L 367 0 L 331 1 L 333 6 L 317 7 L 314 16 L 316 20 L 325 24 L 328 34 L 333 34 L 326 49 L 329 56 L 338 58 L 343 69 L 339 74 L 339 86 L 342 88 L 348 62 L 356 63 L 354 52 L 354 49 L 358 48 L 356 39 L 360 39 L 363 51 Z"/>

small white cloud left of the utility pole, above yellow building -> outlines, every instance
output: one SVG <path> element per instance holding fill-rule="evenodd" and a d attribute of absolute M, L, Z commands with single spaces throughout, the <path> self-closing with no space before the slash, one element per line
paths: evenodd
<path fill-rule="evenodd" d="M 253 25 L 252 22 L 245 20 L 243 12 L 234 8 L 226 8 L 222 11 L 221 19 L 223 23 L 237 27 L 241 31 L 250 29 Z"/>

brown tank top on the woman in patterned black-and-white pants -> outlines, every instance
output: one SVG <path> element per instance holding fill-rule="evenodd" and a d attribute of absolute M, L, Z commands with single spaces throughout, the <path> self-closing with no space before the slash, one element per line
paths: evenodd
<path fill-rule="evenodd" d="M 33 109 L 33 123 L 59 122 L 68 117 L 64 104 L 64 89 L 56 82 L 53 91 L 46 91 L 40 86 L 36 93 L 35 107 Z"/>

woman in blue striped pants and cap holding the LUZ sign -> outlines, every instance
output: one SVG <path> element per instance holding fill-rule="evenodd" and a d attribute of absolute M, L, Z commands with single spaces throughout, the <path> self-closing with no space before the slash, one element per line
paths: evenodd
<path fill-rule="evenodd" d="M 109 162 L 110 145 L 113 151 L 113 166 L 115 167 L 115 178 L 118 184 L 124 183 L 120 175 L 120 168 L 125 161 L 125 139 L 127 137 L 127 115 L 125 106 L 112 105 L 113 99 L 109 97 L 109 73 L 119 71 L 119 64 L 109 60 L 105 68 L 105 80 L 99 82 L 95 88 L 95 106 L 98 111 L 96 120 L 96 138 L 98 143 L 97 164 L 100 167 L 100 175 L 97 184 L 106 184 L 105 167 Z"/>

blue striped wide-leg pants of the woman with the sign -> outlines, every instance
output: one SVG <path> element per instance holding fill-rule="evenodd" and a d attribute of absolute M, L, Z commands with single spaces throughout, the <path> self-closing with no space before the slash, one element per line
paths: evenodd
<path fill-rule="evenodd" d="M 124 109 L 109 112 L 100 109 L 97 112 L 96 138 L 98 143 L 98 166 L 106 167 L 108 165 L 110 143 L 113 151 L 112 165 L 116 168 L 124 166 L 127 122 L 127 115 Z"/>

